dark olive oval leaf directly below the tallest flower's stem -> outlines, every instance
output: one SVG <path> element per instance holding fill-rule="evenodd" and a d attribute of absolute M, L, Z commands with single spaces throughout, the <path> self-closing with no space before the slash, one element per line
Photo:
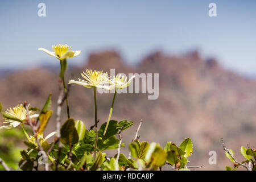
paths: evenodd
<path fill-rule="evenodd" d="M 75 128 L 75 121 L 74 119 L 68 119 L 64 125 L 60 129 L 60 141 L 63 144 L 68 144 L 69 146 L 73 146 L 79 142 L 79 135 L 77 134 Z"/>

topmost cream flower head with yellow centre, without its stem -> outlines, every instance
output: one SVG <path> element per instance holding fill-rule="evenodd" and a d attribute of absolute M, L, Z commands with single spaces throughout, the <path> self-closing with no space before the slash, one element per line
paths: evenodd
<path fill-rule="evenodd" d="M 71 58 L 71 57 L 75 57 L 80 55 L 81 51 L 72 51 L 71 47 L 69 47 L 67 44 L 62 45 L 62 44 L 58 44 L 55 46 L 52 46 L 52 49 L 54 52 L 48 51 L 45 48 L 39 48 L 39 51 L 44 51 L 46 53 L 48 53 L 48 55 L 51 55 L 53 57 L 56 57 L 59 60 L 64 60 L 67 58 Z"/>

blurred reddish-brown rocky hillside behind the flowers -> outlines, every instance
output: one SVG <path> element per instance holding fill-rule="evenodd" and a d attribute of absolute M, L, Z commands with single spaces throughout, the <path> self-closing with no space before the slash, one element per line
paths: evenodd
<path fill-rule="evenodd" d="M 255 80 L 226 71 L 214 59 L 203 60 L 198 52 L 183 56 L 154 52 L 136 67 L 130 67 L 114 51 L 93 53 L 86 64 L 70 68 L 66 80 L 81 78 L 85 69 L 109 72 L 110 68 L 115 68 L 115 73 L 159 73 L 158 100 L 148 100 L 147 94 L 118 94 L 116 98 L 113 119 L 135 122 L 134 127 L 124 133 L 126 144 L 133 139 L 142 118 L 141 140 L 163 145 L 191 137 L 195 150 L 189 160 L 192 166 L 204 164 L 201 169 L 224 169 L 224 164 L 231 165 L 225 159 L 221 138 L 234 149 L 238 159 L 240 146 L 256 146 Z M 32 106 L 42 107 L 52 93 L 52 109 L 56 110 L 58 75 L 58 70 L 46 68 L 6 75 L 0 80 L 0 102 L 10 107 L 27 100 Z M 112 94 L 98 94 L 100 123 L 106 122 L 112 97 Z M 93 125 L 92 89 L 72 85 L 69 102 L 71 117 L 84 121 L 87 128 Z M 55 115 L 48 132 L 53 130 Z M 208 164 L 208 152 L 212 150 L 217 152 L 218 166 Z"/>

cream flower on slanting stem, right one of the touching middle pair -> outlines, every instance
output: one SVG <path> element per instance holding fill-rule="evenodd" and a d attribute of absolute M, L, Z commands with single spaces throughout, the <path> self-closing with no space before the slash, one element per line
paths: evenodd
<path fill-rule="evenodd" d="M 127 81 L 127 77 L 125 76 L 121 76 L 121 74 L 118 74 L 117 76 L 115 76 L 112 80 L 110 80 L 110 84 L 111 84 L 111 89 L 122 89 L 122 88 L 126 88 L 127 86 L 129 86 L 131 84 L 131 80 L 133 80 L 135 76 L 133 75 L 129 81 Z M 127 81 L 127 82 L 126 82 Z"/>

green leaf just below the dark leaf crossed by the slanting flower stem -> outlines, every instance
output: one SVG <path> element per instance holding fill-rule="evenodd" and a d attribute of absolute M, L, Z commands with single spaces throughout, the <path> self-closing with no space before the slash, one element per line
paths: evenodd
<path fill-rule="evenodd" d="M 111 150 L 118 148 L 119 139 L 117 137 L 112 136 L 106 140 L 102 140 L 101 138 L 98 138 L 98 148 L 100 151 L 104 150 Z M 125 144 L 121 144 L 121 147 L 125 146 Z"/>

